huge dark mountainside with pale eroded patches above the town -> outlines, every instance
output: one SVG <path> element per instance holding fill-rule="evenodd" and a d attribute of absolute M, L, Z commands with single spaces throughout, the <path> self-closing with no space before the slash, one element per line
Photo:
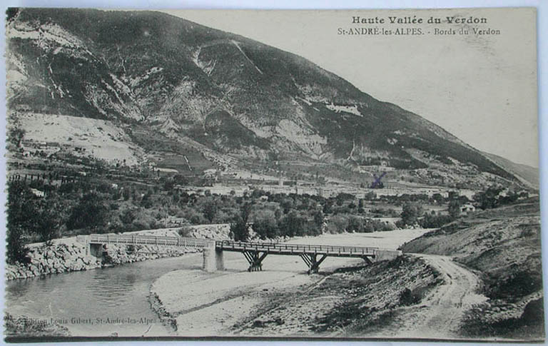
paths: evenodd
<path fill-rule="evenodd" d="M 9 9 L 6 36 L 14 117 L 106 121 L 148 158 L 378 166 L 446 185 L 516 179 L 305 58 L 168 14 Z"/>

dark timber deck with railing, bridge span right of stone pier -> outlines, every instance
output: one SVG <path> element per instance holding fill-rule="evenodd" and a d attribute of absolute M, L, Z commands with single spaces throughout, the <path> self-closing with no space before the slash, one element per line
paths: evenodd
<path fill-rule="evenodd" d="M 218 240 L 215 247 L 223 251 L 260 251 L 273 255 L 328 255 L 333 257 L 357 257 L 375 256 L 377 248 L 362 248 L 357 246 L 332 246 L 332 245 L 298 245 L 279 243 L 245 243 L 232 240 Z"/>

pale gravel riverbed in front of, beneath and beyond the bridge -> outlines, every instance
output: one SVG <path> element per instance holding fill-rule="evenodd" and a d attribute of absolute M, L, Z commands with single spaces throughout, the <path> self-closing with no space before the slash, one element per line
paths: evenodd
<path fill-rule="evenodd" d="M 396 249 L 425 232 L 427 230 L 395 230 L 321 235 L 294 239 L 288 243 Z M 343 298 L 335 293 L 320 294 L 315 296 L 310 309 L 305 308 L 301 301 L 305 302 L 306 297 L 321 292 L 323 283 L 333 275 L 338 275 L 334 274 L 340 270 L 338 268 L 353 268 L 364 263 L 361 259 L 328 258 L 322 264 L 319 274 L 308 275 L 306 265 L 297 256 L 270 255 L 263 263 L 264 271 L 249 273 L 246 270 L 248 263 L 240 253 L 225 253 L 224 257 L 225 271 L 205 273 L 200 270 L 176 270 L 158 278 L 151 286 L 154 308 L 158 315 L 176 327 L 177 335 L 252 335 L 248 331 L 253 329 L 258 331 L 255 336 L 263 336 L 269 335 L 268 328 L 274 328 L 271 329 L 275 330 L 270 334 L 272 336 L 306 336 L 311 331 L 304 324 L 328 313 Z M 380 265 L 375 263 L 375 268 L 380 268 Z M 377 280 L 381 279 L 382 270 L 377 276 Z M 413 285 L 408 287 L 415 289 Z M 395 295 L 404 288 L 397 288 Z M 285 306 L 280 311 L 285 309 L 288 312 L 285 317 L 264 317 L 268 316 L 265 314 L 270 310 L 280 306 Z M 259 327 L 262 325 L 268 328 Z M 315 336 L 317 333 L 310 335 Z"/>

